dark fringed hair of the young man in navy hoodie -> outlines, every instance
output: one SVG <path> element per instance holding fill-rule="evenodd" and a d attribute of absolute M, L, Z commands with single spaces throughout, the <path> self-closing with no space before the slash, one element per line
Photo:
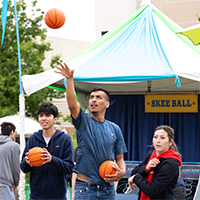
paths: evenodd
<path fill-rule="evenodd" d="M 38 109 L 38 115 L 44 114 L 52 114 L 55 117 L 58 116 L 58 108 L 52 103 L 43 103 Z"/>

